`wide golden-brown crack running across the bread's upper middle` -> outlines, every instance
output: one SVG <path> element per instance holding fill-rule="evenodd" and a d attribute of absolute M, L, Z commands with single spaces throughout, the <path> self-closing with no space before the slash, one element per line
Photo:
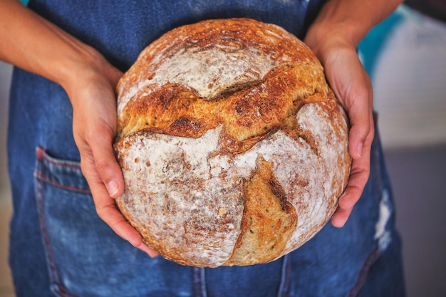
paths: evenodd
<path fill-rule="evenodd" d="M 271 130 L 294 130 L 294 118 L 302 106 L 325 100 L 328 85 L 313 77 L 323 77 L 319 68 L 284 64 L 272 68 L 262 80 L 228 86 L 213 100 L 172 83 L 152 92 L 142 89 L 138 100 L 130 100 L 123 109 L 118 135 L 147 130 L 198 138 L 222 124 L 232 141 L 249 140 L 251 145 L 236 143 L 237 150 L 230 151 L 242 152 Z"/>

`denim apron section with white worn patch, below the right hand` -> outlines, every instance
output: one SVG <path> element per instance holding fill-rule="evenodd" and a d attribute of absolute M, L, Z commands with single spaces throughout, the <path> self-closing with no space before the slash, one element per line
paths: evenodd
<path fill-rule="evenodd" d="M 393 197 L 375 129 L 361 199 L 343 228 L 327 224 L 291 254 L 289 296 L 405 296 Z"/>

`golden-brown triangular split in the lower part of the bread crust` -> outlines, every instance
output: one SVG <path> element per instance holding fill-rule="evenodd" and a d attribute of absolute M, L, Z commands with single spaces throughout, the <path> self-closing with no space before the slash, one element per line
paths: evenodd
<path fill-rule="evenodd" d="M 269 162 L 259 157 L 244 185 L 242 229 L 225 265 L 270 262 L 283 253 L 297 225 L 296 209 L 277 182 Z"/>

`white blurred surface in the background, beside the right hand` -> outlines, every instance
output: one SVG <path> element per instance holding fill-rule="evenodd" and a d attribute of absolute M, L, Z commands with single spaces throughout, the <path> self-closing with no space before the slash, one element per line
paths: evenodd
<path fill-rule="evenodd" d="M 446 24 L 410 11 L 388 36 L 373 86 L 385 147 L 446 143 Z"/>

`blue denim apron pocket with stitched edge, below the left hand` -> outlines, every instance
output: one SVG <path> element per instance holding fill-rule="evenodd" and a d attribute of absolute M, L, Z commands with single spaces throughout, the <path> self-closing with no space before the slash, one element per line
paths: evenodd
<path fill-rule="evenodd" d="M 192 291 L 189 267 L 151 259 L 98 217 L 79 162 L 57 160 L 38 147 L 34 175 L 56 296 L 187 296 Z"/>

